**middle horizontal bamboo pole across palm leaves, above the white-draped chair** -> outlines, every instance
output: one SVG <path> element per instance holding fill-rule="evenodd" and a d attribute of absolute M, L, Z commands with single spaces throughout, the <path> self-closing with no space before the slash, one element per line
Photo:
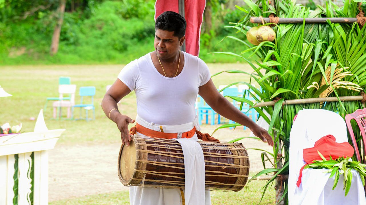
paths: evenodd
<path fill-rule="evenodd" d="M 362 96 L 343 96 L 339 97 L 340 101 L 358 101 L 363 100 Z M 283 105 L 293 105 L 293 104 L 304 104 L 304 103 L 320 103 L 320 102 L 335 102 L 338 101 L 337 97 L 317 97 L 317 98 L 306 98 L 306 99 L 295 99 L 295 100 L 285 100 L 283 101 Z M 275 105 L 275 101 L 268 101 L 263 103 L 257 103 L 253 107 L 265 107 L 265 106 L 273 106 Z"/>

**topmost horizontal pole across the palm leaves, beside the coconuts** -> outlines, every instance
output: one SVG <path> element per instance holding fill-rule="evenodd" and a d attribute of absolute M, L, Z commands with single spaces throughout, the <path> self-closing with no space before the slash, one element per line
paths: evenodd
<path fill-rule="evenodd" d="M 251 23 L 270 23 L 269 18 L 250 17 Z M 279 18 L 278 23 L 326 23 L 326 20 L 330 20 L 333 23 L 354 23 L 357 22 L 357 18 Z"/>

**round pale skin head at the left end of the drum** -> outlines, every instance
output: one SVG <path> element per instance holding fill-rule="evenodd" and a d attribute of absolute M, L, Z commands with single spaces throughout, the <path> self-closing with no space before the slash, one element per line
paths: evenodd
<path fill-rule="evenodd" d="M 125 182 L 128 182 L 134 174 L 136 163 L 136 147 L 133 140 L 130 141 L 130 146 L 124 145 L 122 148 L 120 159 L 121 177 Z"/>

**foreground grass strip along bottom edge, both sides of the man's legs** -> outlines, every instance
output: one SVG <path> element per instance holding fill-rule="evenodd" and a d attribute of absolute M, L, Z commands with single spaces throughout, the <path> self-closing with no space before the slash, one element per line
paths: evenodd
<path fill-rule="evenodd" d="M 265 195 L 262 201 L 261 190 L 264 186 L 264 181 L 254 180 L 249 186 L 244 187 L 238 192 L 229 191 L 211 191 L 211 202 L 212 205 L 269 205 L 275 204 L 275 190 L 271 189 Z M 128 191 L 116 191 L 106 194 L 89 195 L 80 198 L 70 198 L 66 200 L 53 201 L 49 205 L 128 205 L 130 199 Z"/>

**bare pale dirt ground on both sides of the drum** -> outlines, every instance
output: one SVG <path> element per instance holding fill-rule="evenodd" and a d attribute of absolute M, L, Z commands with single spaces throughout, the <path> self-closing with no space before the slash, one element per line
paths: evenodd
<path fill-rule="evenodd" d="M 254 139 L 240 141 L 246 148 L 268 145 Z M 128 190 L 119 181 L 117 158 L 120 144 L 57 145 L 49 150 L 49 201 Z M 262 169 L 260 151 L 248 150 L 251 173 Z"/>

